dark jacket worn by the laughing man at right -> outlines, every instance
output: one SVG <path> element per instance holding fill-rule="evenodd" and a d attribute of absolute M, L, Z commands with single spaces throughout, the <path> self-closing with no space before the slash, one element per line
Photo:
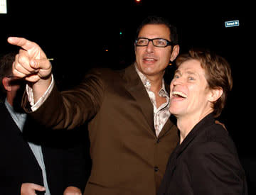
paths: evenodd
<path fill-rule="evenodd" d="M 247 194 L 233 140 L 213 114 L 203 118 L 171 154 L 159 195 Z"/>

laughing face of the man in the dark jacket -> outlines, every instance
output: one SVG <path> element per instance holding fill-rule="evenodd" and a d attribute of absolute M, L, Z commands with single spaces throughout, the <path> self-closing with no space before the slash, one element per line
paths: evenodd
<path fill-rule="evenodd" d="M 169 111 L 174 116 L 201 119 L 213 111 L 213 91 L 208 87 L 205 74 L 198 60 L 179 65 L 171 82 Z"/>

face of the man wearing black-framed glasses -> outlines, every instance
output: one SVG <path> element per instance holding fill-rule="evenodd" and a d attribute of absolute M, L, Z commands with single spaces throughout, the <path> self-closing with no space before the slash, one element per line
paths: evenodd
<path fill-rule="evenodd" d="M 164 24 L 147 24 L 140 30 L 138 38 L 164 38 L 170 40 L 170 30 Z M 166 48 L 154 47 L 152 42 L 149 45 L 136 47 L 137 68 L 146 77 L 164 74 L 164 69 L 169 65 L 170 60 L 174 60 L 178 55 L 178 45 L 174 46 L 171 53 L 171 46 Z"/>

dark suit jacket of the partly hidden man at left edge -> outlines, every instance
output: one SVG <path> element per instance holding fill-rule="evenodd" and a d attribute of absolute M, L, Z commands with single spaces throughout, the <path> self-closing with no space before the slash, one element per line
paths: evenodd
<path fill-rule="evenodd" d="M 21 133 L 4 104 L 0 104 L 0 118 L 0 194 L 21 194 L 22 183 L 35 183 L 43 186 L 41 167 L 27 141 L 39 144 L 42 136 L 46 136 L 46 133 L 42 134 L 41 129 L 38 125 L 33 124 L 33 121 L 26 123 L 23 133 Z M 34 135 L 28 132 L 30 130 L 28 125 L 33 128 L 33 132 L 36 132 Z M 42 152 L 50 193 L 53 195 L 63 194 L 67 186 L 77 186 L 83 190 L 85 174 L 81 175 L 80 172 L 84 165 L 82 161 L 77 163 L 78 158 L 73 155 L 73 150 L 63 150 L 61 147 L 52 147 L 49 142 L 44 143 L 46 145 L 42 147 Z M 75 171 L 73 167 L 65 166 L 65 162 L 70 161 L 75 162 L 73 166 L 76 166 L 79 172 Z"/>

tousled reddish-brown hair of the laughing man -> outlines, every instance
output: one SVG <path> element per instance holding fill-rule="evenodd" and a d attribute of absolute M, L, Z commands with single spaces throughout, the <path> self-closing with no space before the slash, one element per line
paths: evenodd
<path fill-rule="evenodd" d="M 228 91 L 233 87 L 233 78 L 230 65 L 223 57 L 209 50 L 189 50 L 188 53 L 179 55 L 176 59 L 177 67 L 188 60 L 198 60 L 206 72 L 206 81 L 210 89 L 221 87 L 223 94 L 213 102 L 213 113 L 215 117 L 220 116 L 227 101 Z"/>

